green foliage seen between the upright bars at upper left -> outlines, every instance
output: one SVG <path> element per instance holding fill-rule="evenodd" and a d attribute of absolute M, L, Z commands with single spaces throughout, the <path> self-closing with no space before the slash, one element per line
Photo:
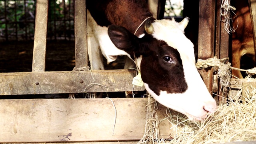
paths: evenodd
<path fill-rule="evenodd" d="M 20 37 L 24 38 L 26 32 L 33 37 L 35 12 L 36 0 L 0 0 L 0 36 L 5 36 L 7 23 L 8 36 L 15 36 L 17 27 L 17 34 Z M 70 29 L 74 26 L 74 22 L 64 22 L 68 19 L 74 19 L 72 1 L 49 0 L 48 31 L 63 33 L 63 31 L 66 31 L 63 28 Z M 54 20 L 56 20 L 56 27 L 54 26 Z"/>

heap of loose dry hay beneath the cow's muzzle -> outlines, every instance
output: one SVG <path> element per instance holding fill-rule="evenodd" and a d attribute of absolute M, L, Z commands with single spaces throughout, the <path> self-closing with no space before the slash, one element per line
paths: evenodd
<path fill-rule="evenodd" d="M 202 124 L 183 122 L 180 134 L 168 144 L 208 144 L 256 140 L 256 89 L 246 98 L 218 106 L 212 118 Z M 176 125 L 178 127 L 178 125 Z"/>

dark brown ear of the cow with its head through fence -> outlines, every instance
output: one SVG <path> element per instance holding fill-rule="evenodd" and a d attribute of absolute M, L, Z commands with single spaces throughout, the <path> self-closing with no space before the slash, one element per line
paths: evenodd
<path fill-rule="evenodd" d="M 110 25 L 108 27 L 108 36 L 117 48 L 128 53 L 139 47 L 139 38 L 122 26 Z"/>

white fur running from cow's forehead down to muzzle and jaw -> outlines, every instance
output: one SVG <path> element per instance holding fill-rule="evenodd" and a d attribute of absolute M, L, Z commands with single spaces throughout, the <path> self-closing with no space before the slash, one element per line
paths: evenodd
<path fill-rule="evenodd" d="M 190 119 L 206 118 L 207 112 L 214 112 L 217 106 L 196 69 L 194 46 L 184 35 L 186 24 L 179 24 L 174 20 L 156 20 L 152 25 L 154 38 L 164 40 L 180 53 L 188 89 L 182 94 L 161 91 L 157 96 L 148 88 L 148 84 L 144 84 L 146 90 L 164 106 L 186 114 Z"/>

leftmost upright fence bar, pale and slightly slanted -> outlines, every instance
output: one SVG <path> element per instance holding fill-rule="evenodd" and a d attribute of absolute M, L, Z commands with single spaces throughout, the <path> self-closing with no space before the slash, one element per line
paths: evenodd
<path fill-rule="evenodd" d="M 48 0 L 37 0 L 32 72 L 45 69 L 47 19 Z"/>

